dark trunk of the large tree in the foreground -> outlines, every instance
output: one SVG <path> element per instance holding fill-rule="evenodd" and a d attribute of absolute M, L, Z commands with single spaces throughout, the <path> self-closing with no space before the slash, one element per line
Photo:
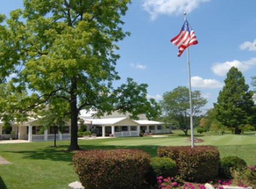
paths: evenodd
<path fill-rule="evenodd" d="M 78 109 L 77 109 L 77 94 L 75 94 L 77 90 L 77 80 L 75 77 L 72 79 L 71 82 L 71 101 L 70 107 L 71 107 L 71 140 L 70 140 L 70 146 L 68 148 L 68 151 L 74 151 L 74 150 L 81 150 L 78 146 Z"/>

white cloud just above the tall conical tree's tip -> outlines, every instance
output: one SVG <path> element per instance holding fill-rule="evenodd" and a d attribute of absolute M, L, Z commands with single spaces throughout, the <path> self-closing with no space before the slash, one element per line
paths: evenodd
<path fill-rule="evenodd" d="M 246 61 L 238 61 L 233 60 L 231 62 L 224 62 L 224 63 L 214 63 L 214 65 L 211 67 L 211 70 L 218 76 L 225 76 L 227 75 L 228 71 L 231 67 L 235 66 L 237 67 L 240 72 L 244 72 L 248 69 L 250 69 L 252 66 L 256 65 L 256 58 L 251 58 Z"/>

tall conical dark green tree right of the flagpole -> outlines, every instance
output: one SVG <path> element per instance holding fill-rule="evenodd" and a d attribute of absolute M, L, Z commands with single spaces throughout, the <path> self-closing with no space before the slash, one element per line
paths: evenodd
<path fill-rule="evenodd" d="M 252 121 L 256 112 L 253 93 L 236 67 L 231 67 L 224 82 L 218 101 L 214 103 L 215 118 L 233 133 L 240 134 L 245 125 L 254 124 Z"/>

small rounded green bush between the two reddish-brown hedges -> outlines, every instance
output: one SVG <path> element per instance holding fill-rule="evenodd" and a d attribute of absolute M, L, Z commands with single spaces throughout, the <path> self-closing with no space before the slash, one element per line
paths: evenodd
<path fill-rule="evenodd" d="M 174 160 L 168 157 L 151 158 L 150 168 L 146 174 L 147 183 L 154 185 L 157 183 L 157 176 L 175 177 L 177 176 L 178 168 Z"/>

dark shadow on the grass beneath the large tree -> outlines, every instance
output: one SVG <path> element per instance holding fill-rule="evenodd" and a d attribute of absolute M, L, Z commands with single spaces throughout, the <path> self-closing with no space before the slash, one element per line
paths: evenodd
<path fill-rule="evenodd" d="M 66 161 L 72 164 L 72 157 L 76 151 L 67 151 L 69 146 L 46 147 L 43 149 L 25 150 L 25 151 L 5 151 L 7 153 L 22 154 L 21 158 L 31 160 L 51 160 Z M 81 150 L 93 149 L 139 149 L 149 154 L 151 157 L 157 157 L 158 146 L 93 146 L 80 144 Z M 14 155 L 15 156 L 15 155 Z M 1 188 L 2 189 L 2 188 Z"/>

